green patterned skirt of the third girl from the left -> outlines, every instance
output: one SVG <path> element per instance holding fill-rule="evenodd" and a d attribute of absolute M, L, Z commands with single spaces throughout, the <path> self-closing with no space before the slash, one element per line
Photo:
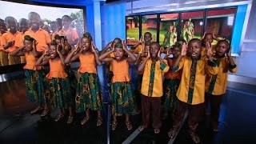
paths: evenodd
<path fill-rule="evenodd" d="M 76 111 L 78 113 L 90 110 L 102 110 L 102 90 L 98 74 L 83 73 L 78 79 L 75 97 Z"/>

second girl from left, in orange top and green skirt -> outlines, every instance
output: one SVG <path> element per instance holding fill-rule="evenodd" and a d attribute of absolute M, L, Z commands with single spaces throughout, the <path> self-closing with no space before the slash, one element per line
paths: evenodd
<path fill-rule="evenodd" d="M 56 41 L 50 43 L 49 54 L 50 57 L 45 58 L 48 50 L 46 49 L 42 56 L 36 62 L 36 66 L 50 64 L 50 72 L 46 75 L 49 80 L 49 94 L 48 102 L 52 108 L 60 108 L 60 114 L 55 118 L 55 122 L 58 122 L 64 117 L 64 110 L 69 109 L 69 117 L 67 123 L 73 122 L 72 106 L 74 106 L 74 100 L 70 94 L 70 82 L 68 81 L 67 74 L 65 72 L 65 59 L 59 51 Z M 47 114 L 48 109 L 46 110 Z"/>

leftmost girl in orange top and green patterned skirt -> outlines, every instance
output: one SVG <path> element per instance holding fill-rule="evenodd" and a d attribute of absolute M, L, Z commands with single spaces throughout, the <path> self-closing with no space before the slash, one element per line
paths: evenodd
<path fill-rule="evenodd" d="M 46 107 L 46 74 L 42 66 L 35 66 L 39 53 L 36 50 L 36 42 L 29 35 L 24 36 L 23 45 L 18 49 L 10 52 L 12 56 L 25 56 L 26 65 L 23 67 L 26 75 L 26 96 L 30 102 L 38 106 L 30 112 L 35 114 Z"/>

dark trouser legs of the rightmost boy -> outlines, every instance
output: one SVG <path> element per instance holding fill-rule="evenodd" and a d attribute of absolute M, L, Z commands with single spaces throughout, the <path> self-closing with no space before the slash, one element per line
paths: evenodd
<path fill-rule="evenodd" d="M 214 128 L 214 131 L 218 131 L 218 117 L 220 106 L 222 103 L 222 95 L 212 95 L 210 94 L 210 109 L 211 109 L 211 124 Z"/>

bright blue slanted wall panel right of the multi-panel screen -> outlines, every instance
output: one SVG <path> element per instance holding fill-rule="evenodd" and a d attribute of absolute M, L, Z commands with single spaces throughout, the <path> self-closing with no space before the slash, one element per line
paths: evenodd
<path fill-rule="evenodd" d="M 240 42 L 241 42 L 241 35 L 242 35 L 242 27 L 246 18 L 246 10 L 248 5 L 240 5 L 237 9 L 237 14 L 235 16 L 234 22 L 234 30 L 232 35 L 232 54 L 239 54 L 240 53 Z"/>

